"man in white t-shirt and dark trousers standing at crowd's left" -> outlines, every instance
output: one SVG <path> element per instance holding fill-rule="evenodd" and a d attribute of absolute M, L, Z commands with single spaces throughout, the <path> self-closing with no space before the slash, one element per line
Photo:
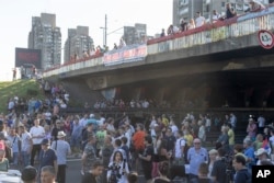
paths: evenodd
<path fill-rule="evenodd" d="M 33 140 L 33 149 L 32 149 L 32 156 L 31 156 L 31 165 L 34 165 L 34 158 L 35 155 L 39 155 L 41 151 L 41 142 L 45 137 L 45 129 L 39 126 L 39 119 L 34 119 L 34 126 L 30 129 L 30 134 L 32 136 Z"/>

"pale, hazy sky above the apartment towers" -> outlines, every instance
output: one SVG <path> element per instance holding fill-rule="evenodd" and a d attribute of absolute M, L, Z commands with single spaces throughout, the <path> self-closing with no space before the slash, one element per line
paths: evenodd
<path fill-rule="evenodd" d="M 56 14 L 61 30 L 62 47 L 68 28 L 89 26 L 94 45 L 103 45 L 105 14 L 107 45 L 112 48 L 123 35 L 123 26 L 147 24 L 148 35 L 155 35 L 172 23 L 172 0 L 0 0 L 0 81 L 12 79 L 15 47 L 27 48 L 32 16 Z M 117 30 L 117 31 L 116 31 Z M 61 56 L 61 62 L 64 55 Z"/>

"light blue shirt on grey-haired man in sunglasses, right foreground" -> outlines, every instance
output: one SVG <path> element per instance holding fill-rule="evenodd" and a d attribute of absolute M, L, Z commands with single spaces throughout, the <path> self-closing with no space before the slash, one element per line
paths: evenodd
<path fill-rule="evenodd" d="M 208 153 L 205 148 L 195 150 L 194 147 L 187 151 L 187 160 L 190 162 L 190 173 L 198 175 L 198 168 L 202 162 L 208 161 Z"/>

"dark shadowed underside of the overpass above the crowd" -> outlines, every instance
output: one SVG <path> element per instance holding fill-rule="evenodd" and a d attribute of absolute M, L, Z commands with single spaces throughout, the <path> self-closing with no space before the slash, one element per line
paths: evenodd
<path fill-rule="evenodd" d="M 116 96 L 127 101 L 157 99 L 171 101 L 175 105 L 178 100 L 190 99 L 196 101 L 198 106 L 220 107 L 228 101 L 233 107 L 262 107 L 265 99 L 261 98 L 272 90 L 273 66 L 273 49 L 256 46 L 66 77 L 60 81 L 68 83 L 66 85 L 72 90 L 71 94 L 82 103 L 87 100 L 94 102 L 101 91 L 117 88 L 119 95 Z M 106 84 L 95 88 L 98 80 Z M 271 96 L 272 92 L 267 94 L 267 106 L 273 106 Z"/>

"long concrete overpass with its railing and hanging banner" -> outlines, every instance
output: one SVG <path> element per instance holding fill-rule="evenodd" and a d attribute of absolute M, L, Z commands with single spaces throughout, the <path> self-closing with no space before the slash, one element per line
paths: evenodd
<path fill-rule="evenodd" d="M 273 48 L 263 48 L 258 35 L 261 30 L 273 32 L 273 20 L 274 7 L 151 39 L 145 45 L 72 61 L 49 69 L 44 76 L 57 76 L 62 82 L 87 84 L 93 91 L 150 80 L 168 83 L 180 80 L 185 81 L 184 84 L 215 84 L 214 81 L 219 80 L 218 84 L 229 81 L 230 87 L 236 81 L 242 84 L 256 80 L 258 84 L 262 84 L 267 79 L 265 82 L 274 83 L 270 77 L 274 69 Z M 129 61 L 123 57 L 123 54 L 136 49 L 141 53 L 140 57 L 137 55 Z M 176 84 L 180 84 L 179 81 Z"/>

